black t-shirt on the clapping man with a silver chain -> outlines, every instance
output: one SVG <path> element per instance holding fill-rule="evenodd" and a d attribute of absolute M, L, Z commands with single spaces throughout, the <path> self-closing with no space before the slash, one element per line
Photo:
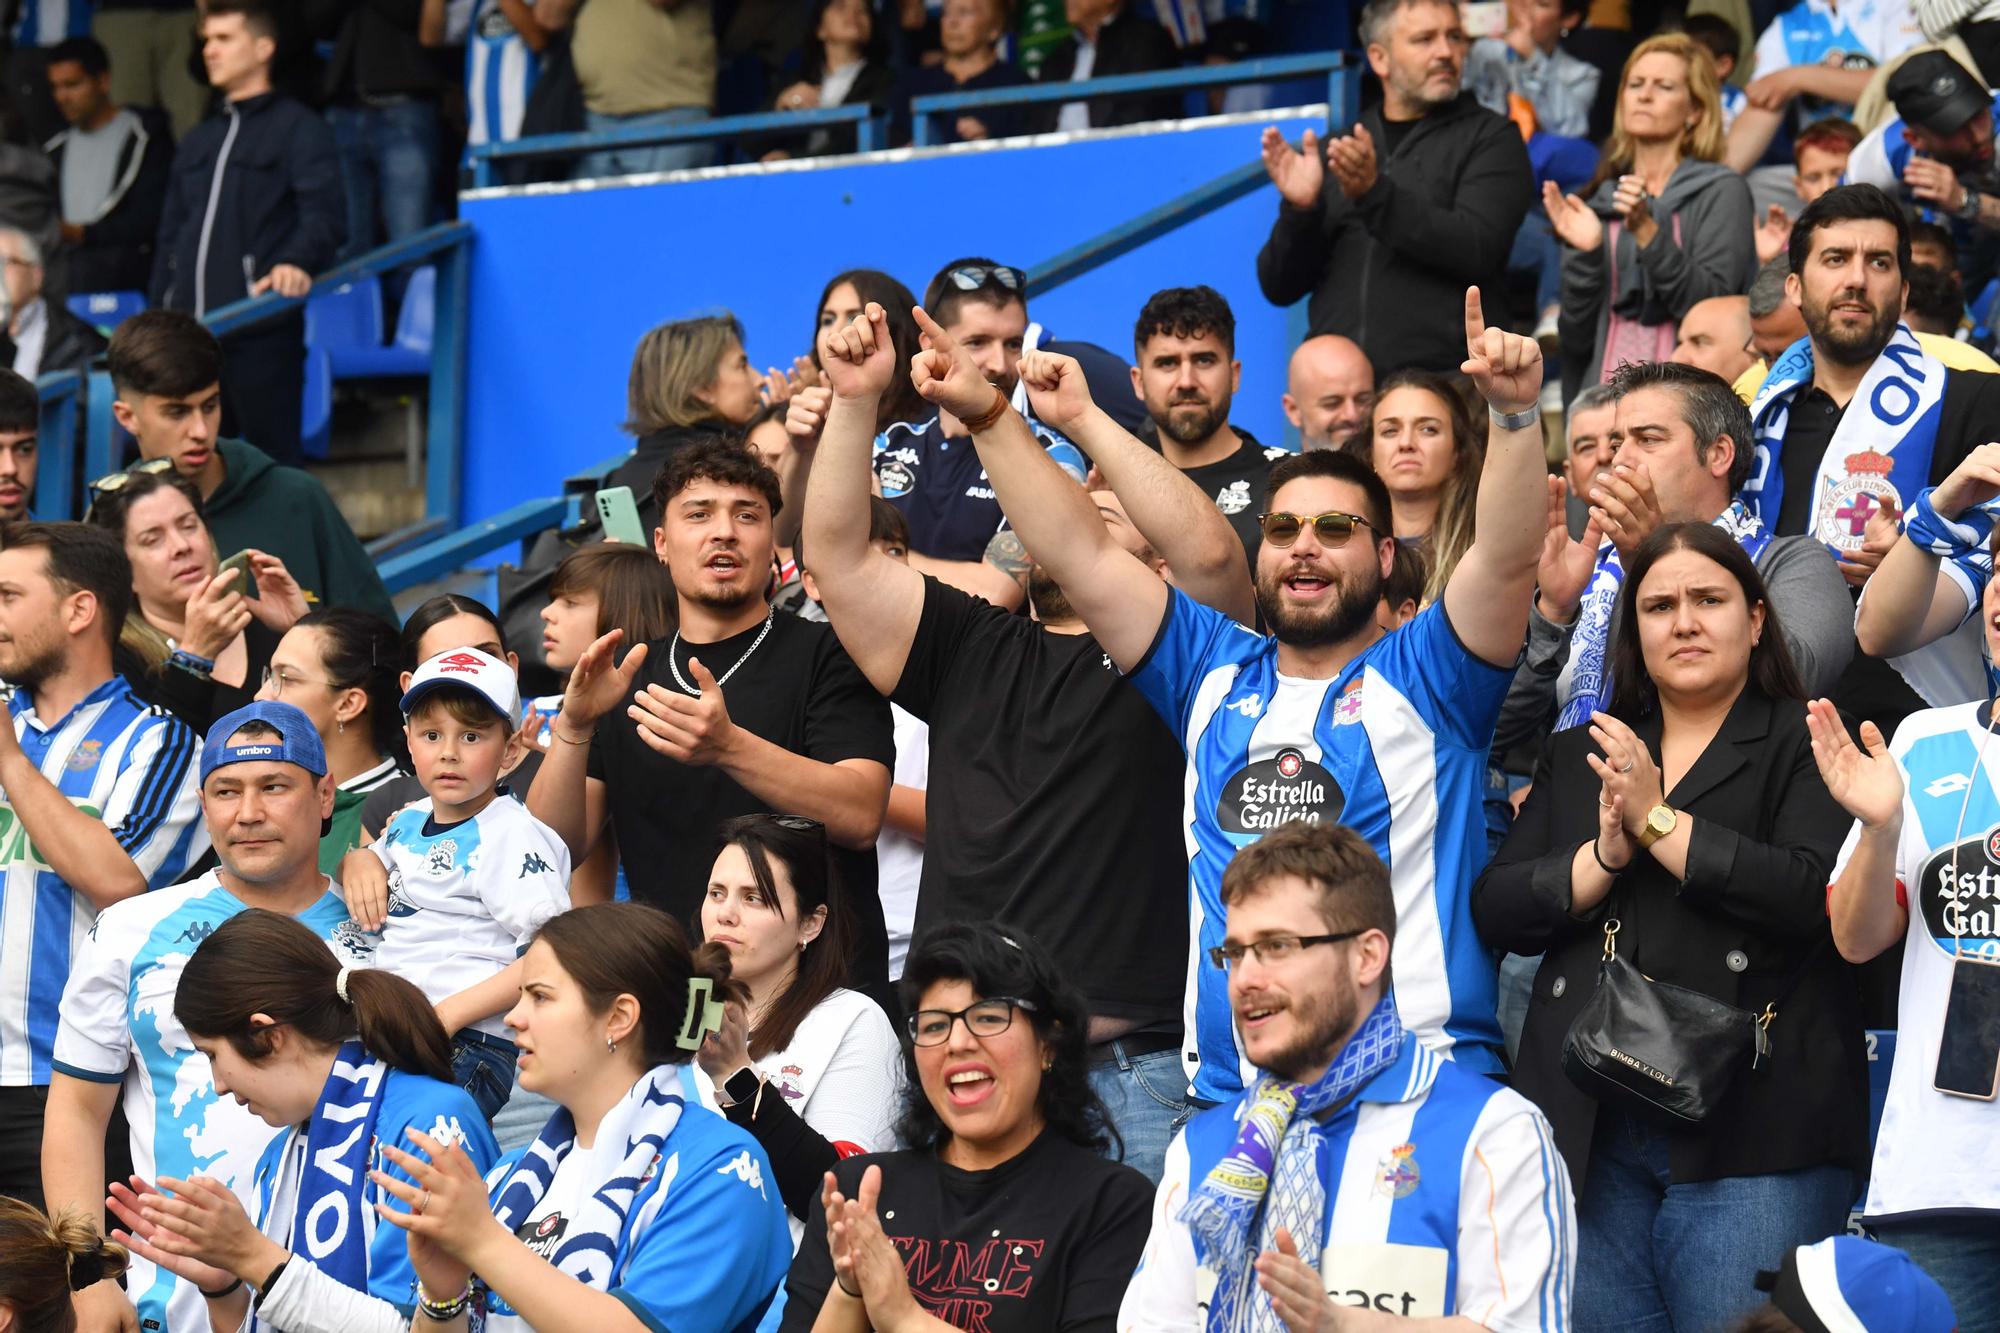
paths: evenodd
<path fill-rule="evenodd" d="M 702 658 L 702 666 L 716 679 L 742 658 L 742 666 L 722 687 L 736 727 L 822 765 L 872 759 L 894 771 L 896 743 L 888 703 L 842 652 L 834 632 L 798 616 L 774 616 L 770 634 L 756 652 L 744 656 L 762 630 L 760 620 L 720 642 L 656 640 L 634 681 L 634 693 L 648 685 L 680 691 L 668 666 L 670 648 L 684 681 L 692 681 L 690 656 Z M 782 805 L 774 807 L 744 791 L 722 769 L 682 765 L 650 749 L 638 739 L 638 725 L 624 709 L 598 721 L 590 743 L 590 777 L 606 785 L 618 859 L 632 897 L 672 913 L 684 925 L 700 915 L 722 821 L 786 813 Z M 850 983 L 858 991 L 884 995 L 888 935 L 876 893 L 874 849 L 834 847 L 832 865 L 860 931 Z"/>

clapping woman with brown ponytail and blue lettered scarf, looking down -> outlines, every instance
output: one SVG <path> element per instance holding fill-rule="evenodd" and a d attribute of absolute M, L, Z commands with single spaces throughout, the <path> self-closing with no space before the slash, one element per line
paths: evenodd
<path fill-rule="evenodd" d="M 490 1167 L 500 1149 L 452 1085 L 452 1043 L 408 981 L 340 967 L 308 927 L 242 911 L 200 943 L 174 1017 L 236 1097 L 286 1133 L 254 1175 L 256 1221 L 222 1181 L 112 1187 L 114 1237 L 194 1283 L 218 1331 L 400 1333 L 418 1255 L 380 1225 L 382 1181 L 408 1181 L 378 1145 L 414 1131 Z M 416 1161 L 416 1159 L 408 1159 Z M 374 1171 L 390 1167 L 394 1175 Z"/>

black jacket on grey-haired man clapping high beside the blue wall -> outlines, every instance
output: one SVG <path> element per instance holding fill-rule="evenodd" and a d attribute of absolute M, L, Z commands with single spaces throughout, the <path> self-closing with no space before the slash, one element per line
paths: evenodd
<path fill-rule="evenodd" d="M 1378 154 L 1376 184 L 1350 200 L 1332 172 L 1316 208 L 1278 204 L 1256 256 L 1264 296 L 1312 296 L 1312 334 L 1360 342 L 1376 374 L 1456 368 L 1466 358 L 1466 288 L 1486 320 L 1506 324 L 1504 274 L 1514 232 L 1534 204 L 1520 130 L 1470 92 L 1424 116 L 1388 152 L 1382 108 L 1362 112 Z"/>

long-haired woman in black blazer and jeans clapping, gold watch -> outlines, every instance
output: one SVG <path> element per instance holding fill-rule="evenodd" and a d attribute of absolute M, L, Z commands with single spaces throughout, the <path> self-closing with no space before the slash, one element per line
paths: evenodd
<path fill-rule="evenodd" d="M 1550 739 L 1472 889 L 1490 949 L 1542 955 L 1514 1087 L 1576 1183 L 1576 1327 L 1724 1327 L 1760 1269 L 1846 1225 L 1868 1161 L 1860 999 L 1826 919 L 1846 831 L 1756 564 L 1710 522 L 1654 530 L 1618 592 L 1610 709 Z M 1572 1081 L 1570 1031 L 1620 959 L 1742 1011 L 1746 1039 L 1768 1015 L 1692 1123 Z"/>

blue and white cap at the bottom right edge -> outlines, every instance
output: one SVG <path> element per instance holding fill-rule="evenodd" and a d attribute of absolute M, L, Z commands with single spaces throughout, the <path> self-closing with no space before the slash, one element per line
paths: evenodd
<path fill-rule="evenodd" d="M 1944 1287 L 1894 1245 L 1836 1235 L 1758 1273 L 1770 1303 L 1806 1333 L 1952 1333 Z"/>

